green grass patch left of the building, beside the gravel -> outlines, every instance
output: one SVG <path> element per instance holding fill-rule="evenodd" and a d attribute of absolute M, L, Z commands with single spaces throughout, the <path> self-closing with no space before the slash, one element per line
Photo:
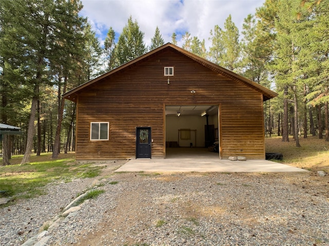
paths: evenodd
<path fill-rule="evenodd" d="M 31 156 L 30 162 L 26 165 L 9 165 L 0 167 L 0 190 L 1 197 L 15 196 L 15 198 L 32 198 L 44 195 L 43 189 L 53 181 L 70 182 L 76 178 L 96 177 L 103 167 L 81 163 L 72 158 L 64 158 L 68 155 L 62 154 L 59 159 L 51 159 L 51 153 L 41 156 Z M 39 157 L 39 158 L 38 158 Z M 13 157 L 22 159 L 22 157 Z M 20 161 L 16 161 L 19 162 Z"/>

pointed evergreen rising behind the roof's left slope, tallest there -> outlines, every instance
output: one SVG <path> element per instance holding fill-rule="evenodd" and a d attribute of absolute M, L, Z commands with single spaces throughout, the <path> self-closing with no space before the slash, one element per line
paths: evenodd
<path fill-rule="evenodd" d="M 144 33 L 139 30 L 137 20 L 133 22 L 132 16 L 130 16 L 116 45 L 116 65 L 127 63 L 145 52 L 147 52 L 147 48 L 144 44 Z"/>

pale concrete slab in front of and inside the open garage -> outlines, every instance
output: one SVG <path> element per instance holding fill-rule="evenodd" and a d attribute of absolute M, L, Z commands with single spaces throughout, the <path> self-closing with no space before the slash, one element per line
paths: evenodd
<path fill-rule="evenodd" d="M 231 161 L 206 148 L 167 148 L 166 159 L 132 159 L 115 172 L 308 172 L 269 160 Z"/>

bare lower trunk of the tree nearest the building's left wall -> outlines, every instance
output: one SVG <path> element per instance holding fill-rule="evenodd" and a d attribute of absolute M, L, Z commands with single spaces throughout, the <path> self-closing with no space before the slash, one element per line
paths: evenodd
<path fill-rule="evenodd" d="M 60 83 L 60 82 L 59 82 Z M 67 75 L 64 77 L 64 86 L 63 86 L 63 93 L 66 92 L 66 84 L 67 84 Z M 63 120 L 63 112 L 64 112 L 64 101 L 65 99 L 61 97 L 61 87 L 58 87 L 58 120 L 57 120 L 57 127 L 55 133 L 55 141 L 52 150 L 51 158 L 56 159 L 58 154 L 60 153 L 60 145 L 61 145 L 61 126 Z"/>

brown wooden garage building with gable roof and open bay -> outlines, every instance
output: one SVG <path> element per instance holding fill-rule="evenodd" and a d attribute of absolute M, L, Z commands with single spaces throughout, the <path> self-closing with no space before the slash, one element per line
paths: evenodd
<path fill-rule="evenodd" d="M 219 145 L 265 159 L 263 102 L 277 93 L 170 43 L 70 90 L 76 158 L 166 158 Z"/>

